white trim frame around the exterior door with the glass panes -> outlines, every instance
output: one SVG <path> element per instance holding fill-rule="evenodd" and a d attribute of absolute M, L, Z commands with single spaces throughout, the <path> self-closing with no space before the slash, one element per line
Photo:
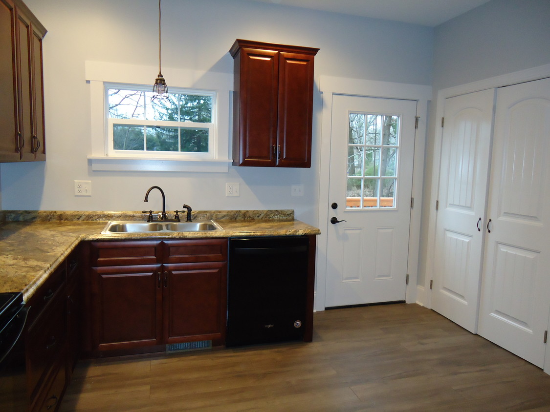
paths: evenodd
<path fill-rule="evenodd" d="M 322 98 L 321 124 L 321 165 L 319 168 L 319 202 L 318 227 L 327 227 L 329 215 L 328 182 L 331 164 L 331 129 L 332 129 L 332 97 L 334 94 L 349 96 L 383 97 L 417 101 L 419 116 L 418 128 L 415 132 L 414 165 L 412 172 L 412 197 L 414 207 L 411 209 L 409 231 L 409 254 L 407 273 L 409 282 L 406 287 L 405 301 L 416 302 L 416 280 L 419 268 L 420 252 L 420 218 L 422 211 L 422 184 L 424 174 L 424 155 L 426 147 L 428 103 L 432 97 L 432 87 L 411 85 L 406 83 L 382 82 L 345 77 L 320 76 L 319 90 Z M 327 241 L 326 231 L 321 231 L 317 238 L 317 287 L 315 293 L 315 310 L 324 310 L 327 280 Z"/>

